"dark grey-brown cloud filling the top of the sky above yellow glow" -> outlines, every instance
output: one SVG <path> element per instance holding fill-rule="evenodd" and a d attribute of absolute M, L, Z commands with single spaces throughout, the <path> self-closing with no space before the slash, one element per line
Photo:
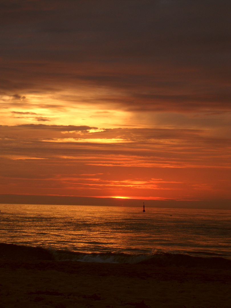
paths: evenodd
<path fill-rule="evenodd" d="M 229 1 L 5 1 L 0 17 L 3 93 L 86 84 L 131 110 L 229 107 Z"/>

